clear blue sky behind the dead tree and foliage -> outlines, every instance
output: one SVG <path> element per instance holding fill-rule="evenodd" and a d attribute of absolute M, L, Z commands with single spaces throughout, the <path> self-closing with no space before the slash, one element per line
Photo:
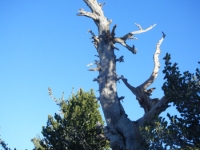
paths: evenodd
<path fill-rule="evenodd" d="M 118 75 L 124 75 L 137 86 L 144 82 L 153 69 L 153 53 L 161 31 L 166 39 L 161 45 L 161 70 L 152 87 L 153 97 L 162 97 L 162 58 L 168 52 L 178 62 L 181 71 L 194 72 L 200 60 L 200 1 L 105 1 L 104 13 L 117 24 L 116 36 L 156 23 L 155 28 L 137 35 L 134 44 L 138 53 L 133 55 L 120 45 L 117 56 L 125 62 L 117 64 Z M 33 149 L 31 138 L 41 135 L 48 114 L 59 110 L 48 96 L 47 88 L 60 97 L 68 98 L 74 87 L 85 91 L 98 90 L 86 65 L 96 58 L 90 41 L 91 29 L 97 33 L 93 21 L 76 16 L 79 8 L 89 10 L 82 0 L 1 0 L 0 1 L 0 135 L 11 148 Z M 98 96 L 98 93 L 96 93 Z M 128 116 L 136 120 L 143 110 L 135 96 L 118 84 L 118 95 L 125 96 L 123 105 Z M 174 109 L 168 112 L 174 113 Z M 163 114 L 165 115 L 165 114 Z"/>

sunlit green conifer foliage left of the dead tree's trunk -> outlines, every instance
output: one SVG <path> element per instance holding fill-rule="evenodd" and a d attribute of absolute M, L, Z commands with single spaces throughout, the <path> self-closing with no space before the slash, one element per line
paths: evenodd
<path fill-rule="evenodd" d="M 36 146 L 35 140 L 36 149 L 101 150 L 108 147 L 99 104 L 92 90 L 80 89 L 69 100 L 61 100 L 59 106 L 62 114 L 48 116 L 42 130 L 44 138 L 40 140 L 42 148 Z"/>

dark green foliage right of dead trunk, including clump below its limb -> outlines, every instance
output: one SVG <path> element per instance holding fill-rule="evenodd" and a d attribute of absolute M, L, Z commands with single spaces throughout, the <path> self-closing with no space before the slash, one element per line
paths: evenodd
<path fill-rule="evenodd" d="M 200 149 L 200 71 L 180 73 L 177 63 L 165 57 L 162 89 L 180 116 L 167 114 L 169 123 L 159 118 L 141 129 L 150 149 Z"/>

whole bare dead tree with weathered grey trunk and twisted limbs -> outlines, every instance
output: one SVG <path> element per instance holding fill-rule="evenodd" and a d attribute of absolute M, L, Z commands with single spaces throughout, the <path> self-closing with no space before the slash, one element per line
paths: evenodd
<path fill-rule="evenodd" d="M 98 71 L 99 76 L 95 78 L 99 84 L 100 103 L 105 116 L 106 124 L 105 134 L 110 140 L 110 146 L 113 150 L 142 150 L 141 136 L 139 126 L 143 126 L 145 122 L 152 122 L 155 115 L 159 115 L 167 107 L 167 99 L 150 98 L 151 93 L 155 88 L 148 87 L 154 82 L 158 76 L 160 67 L 159 54 L 160 45 L 165 38 L 163 33 L 162 38 L 158 41 L 156 51 L 154 53 L 154 69 L 150 77 L 139 86 L 132 86 L 124 76 L 116 74 L 116 62 L 123 62 L 123 57 L 116 58 L 115 47 L 119 43 L 126 47 L 130 52 L 136 54 L 135 46 L 129 46 L 126 41 L 128 39 L 136 39 L 135 34 L 140 34 L 151 30 L 154 26 L 143 29 L 139 24 L 137 31 L 129 32 L 122 37 L 115 37 L 116 25 L 110 30 L 111 20 L 108 20 L 103 13 L 102 7 L 105 3 L 100 4 L 97 0 L 83 0 L 90 8 L 91 12 L 80 9 L 78 16 L 86 16 L 93 19 L 98 27 L 98 35 L 95 35 L 91 30 L 94 46 L 98 52 L 99 60 L 96 61 L 97 68 L 91 68 L 90 71 Z M 136 121 L 131 121 L 121 105 L 121 100 L 124 98 L 118 97 L 116 82 L 122 80 L 128 89 L 136 96 L 141 107 L 144 109 L 144 116 Z"/>

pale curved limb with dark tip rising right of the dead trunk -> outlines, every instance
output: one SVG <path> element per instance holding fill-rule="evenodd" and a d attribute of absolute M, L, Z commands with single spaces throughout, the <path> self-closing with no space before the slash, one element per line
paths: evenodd
<path fill-rule="evenodd" d="M 139 87 L 143 90 L 146 90 L 154 81 L 155 79 L 157 78 L 158 76 L 158 71 L 159 71 L 159 68 L 160 68 L 160 62 L 159 62 L 159 54 L 160 54 L 160 45 L 162 44 L 164 38 L 165 38 L 165 34 L 164 32 L 162 32 L 163 36 L 162 38 L 158 41 L 157 45 L 156 45 L 156 51 L 154 53 L 154 56 L 153 56 L 153 60 L 154 60 L 154 69 L 153 69 L 153 72 L 152 74 L 150 75 L 150 77 L 144 82 L 142 83 Z"/>

